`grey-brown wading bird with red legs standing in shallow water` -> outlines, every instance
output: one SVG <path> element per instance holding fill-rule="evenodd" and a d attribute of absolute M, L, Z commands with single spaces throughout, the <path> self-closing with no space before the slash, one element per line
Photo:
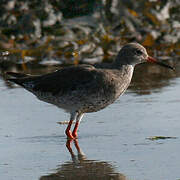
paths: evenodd
<path fill-rule="evenodd" d="M 132 42 L 124 45 L 115 60 L 105 67 L 74 65 L 36 76 L 7 72 L 12 76 L 7 80 L 30 91 L 39 100 L 70 113 L 65 134 L 67 139 L 76 139 L 83 115 L 114 103 L 128 88 L 135 65 L 144 62 L 173 69 L 149 56 L 141 44 Z M 75 125 L 71 131 L 73 121 Z"/>

